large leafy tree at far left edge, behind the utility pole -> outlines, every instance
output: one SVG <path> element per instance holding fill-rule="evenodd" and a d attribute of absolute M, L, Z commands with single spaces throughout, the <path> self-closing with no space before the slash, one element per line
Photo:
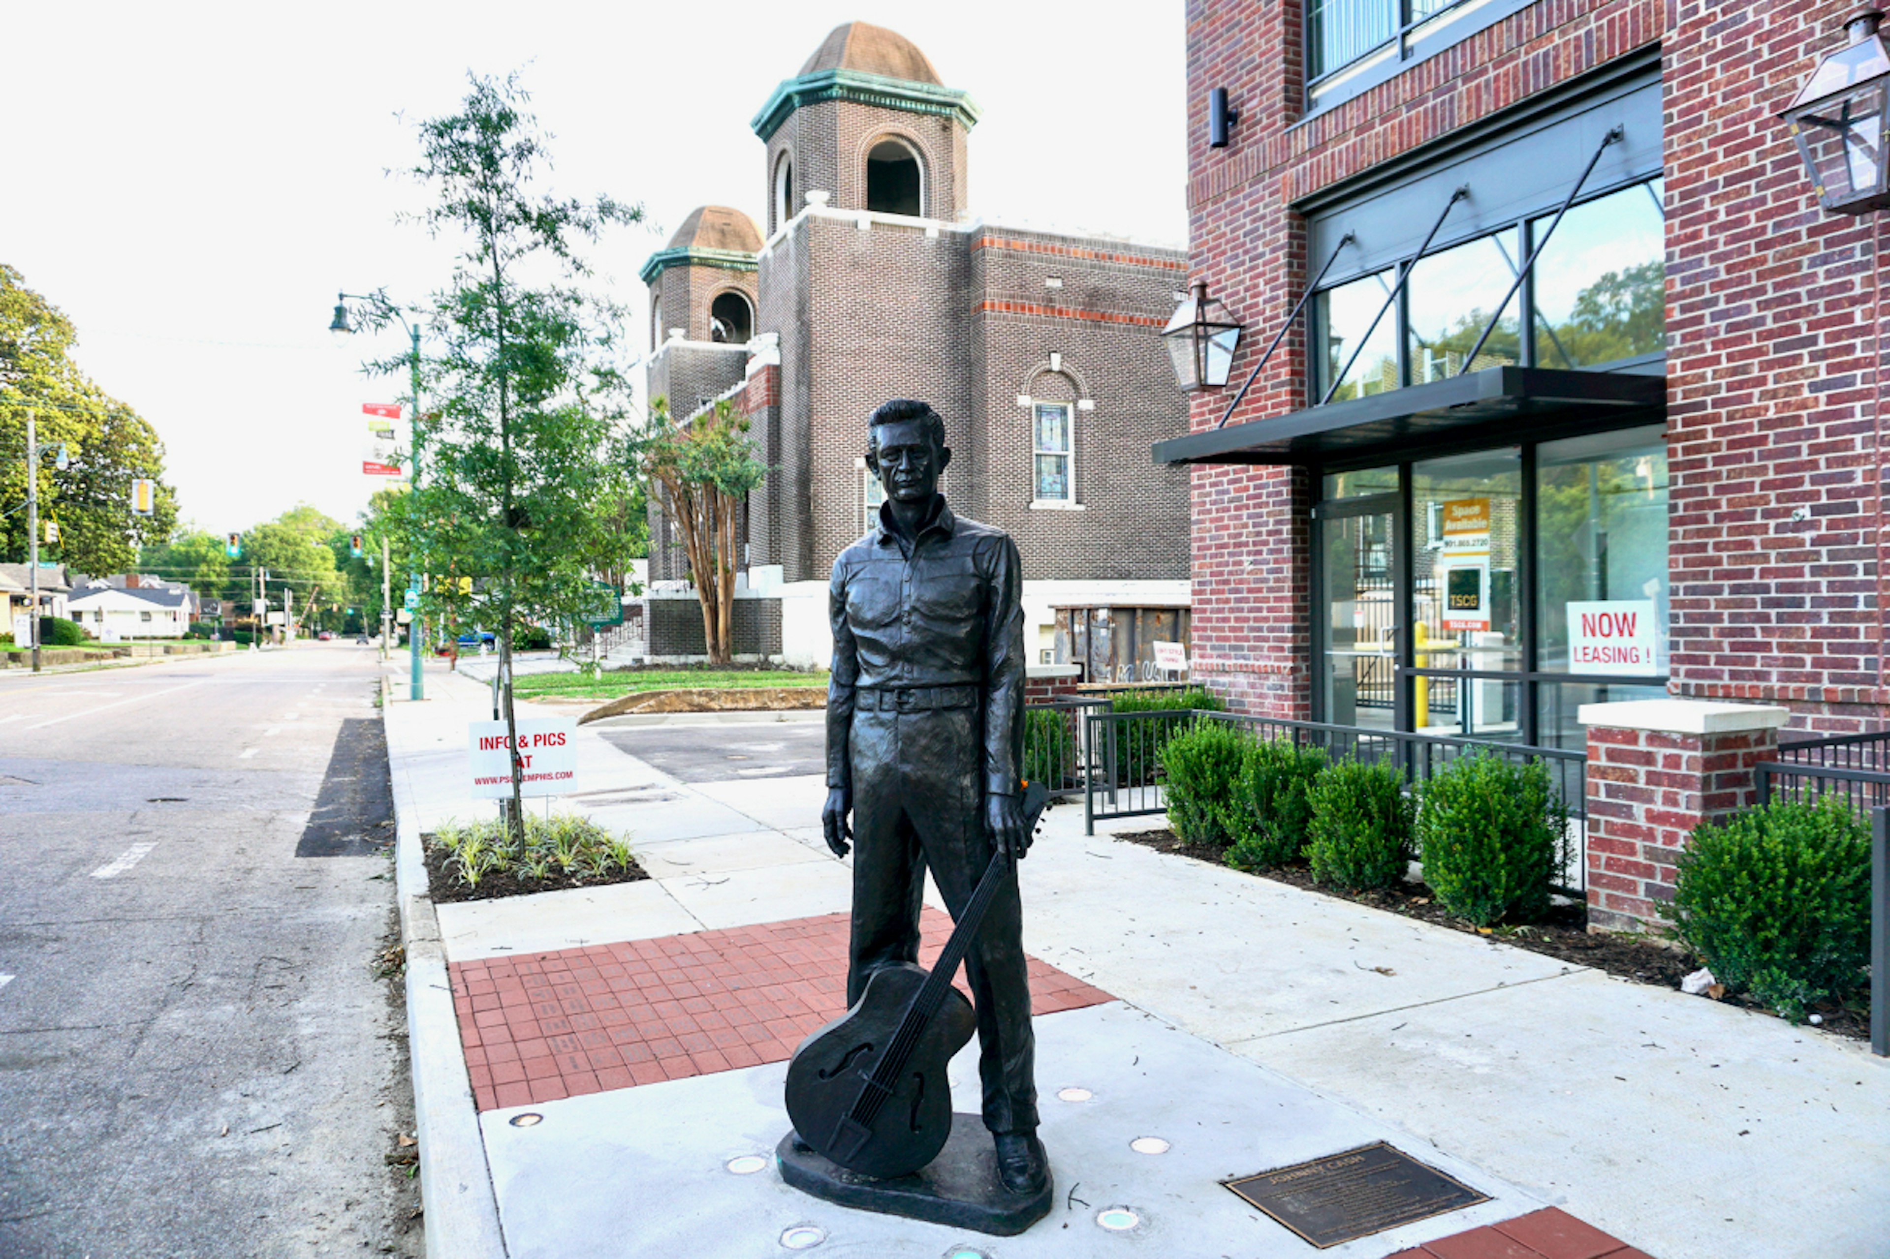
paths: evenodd
<path fill-rule="evenodd" d="M 72 361 L 77 331 L 19 270 L 0 263 L 0 550 L 26 558 L 26 414 L 42 448 L 66 446 L 66 467 L 43 457 L 38 474 L 40 520 L 59 524 L 59 543 L 42 560 L 83 573 L 119 573 L 138 546 L 159 543 L 176 524 L 176 495 L 163 482 L 164 446 L 125 403 L 94 386 Z M 157 480 L 157 510 L 134 516 L 130 482 Z"/>

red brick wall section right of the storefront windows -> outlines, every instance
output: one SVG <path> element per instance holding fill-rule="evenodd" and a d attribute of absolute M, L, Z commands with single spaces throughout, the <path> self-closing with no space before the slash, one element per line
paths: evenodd
<path fill-rule="evenodd" d="M 1663 49 L 1673 681 L 1882 726 L 1882 216 L 1775 117 L 1854 4 L 1676 6 Z M 1794 520 L 1803 514 L 1803 520 Z"/>

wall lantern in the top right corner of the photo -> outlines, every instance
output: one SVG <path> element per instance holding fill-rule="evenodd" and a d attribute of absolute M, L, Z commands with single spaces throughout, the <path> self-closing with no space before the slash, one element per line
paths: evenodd
<path fill-rule="evenodd" d="M 1879 26 L 1882 9 L 1860 9 L 1845 21 L 1850 43 L 1824 60 L 1784 110 L 1797 155 L 1818 200 L 1833 214 L 1869 214 L 1890 206 L 1890 47 Z"/>

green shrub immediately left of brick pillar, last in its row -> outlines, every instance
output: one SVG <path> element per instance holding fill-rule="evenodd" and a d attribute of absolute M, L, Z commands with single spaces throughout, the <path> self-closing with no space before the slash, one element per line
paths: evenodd
<path fill-rule="evenodd" d="M 1565 820 L 1540 760 L 1459 756 L 1423 786 L 1423 879 L 1440 905 L 1476 926 L 1531 923 L 1548 911 Z"/>

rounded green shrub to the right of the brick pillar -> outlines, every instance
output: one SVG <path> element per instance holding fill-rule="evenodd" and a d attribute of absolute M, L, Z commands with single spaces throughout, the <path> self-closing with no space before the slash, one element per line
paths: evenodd
<path fill-rule="evenodd" d="M 1707 822 L 1678 858 L 1673 904 L 1658 909 L 1714 979 L 1797 1023 L 1864 979 L 1869 828 L 1835 796 Z"/>

